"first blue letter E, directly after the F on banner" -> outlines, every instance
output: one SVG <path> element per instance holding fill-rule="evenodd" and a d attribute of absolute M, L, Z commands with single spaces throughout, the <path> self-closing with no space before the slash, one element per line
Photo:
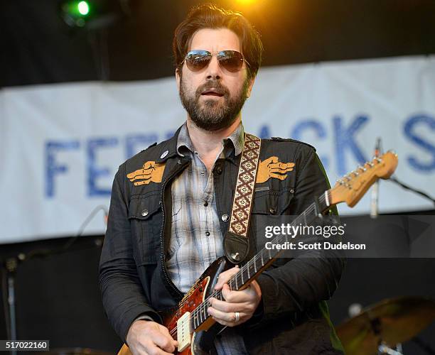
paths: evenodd
<path fill-rule="evenodd" d="M 118 143 L 117 138 L 95 138 L 87 142 L 87 182 L 90 196 L 110 195 L 110 188 L 98 187 L 97 178 L 109 175 L 109 168 L 98 168 L 96 151 L 100 147 L 112 147 Z"/>

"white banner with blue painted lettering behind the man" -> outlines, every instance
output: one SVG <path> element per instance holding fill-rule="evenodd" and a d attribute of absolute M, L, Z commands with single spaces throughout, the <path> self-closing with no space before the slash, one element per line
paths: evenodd
<path fill-rule="evenodd" d="M 174 78 L 6 88 L 0 114 L 0 243 L 75 235 L 109 207 L 117 167 L 186 119 Z M 435 195 L 435 58 L 266 67 L 242 116 L 251 133 L 316 146 L 332 185 L 382 137 L 399 154 L 395 176 Z M 367 213 L 368 195 L 340 213 Z M 431 208 L 380 184 L 380 212 Z M 95 218 L 85 234 L 104 229 Z"/>

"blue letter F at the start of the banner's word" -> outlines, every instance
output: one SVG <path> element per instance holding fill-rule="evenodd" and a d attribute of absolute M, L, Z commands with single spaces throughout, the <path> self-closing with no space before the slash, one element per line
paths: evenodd
<path fill-rule="evenodd" d="M 45 196 L 55 195 L 55 175 L 66 173 L 68 166 L 56 163 L 55 154 L 58 151 L 70 151 L 79 148 L 78 141 L 48 141 L 45 143 Z"/>

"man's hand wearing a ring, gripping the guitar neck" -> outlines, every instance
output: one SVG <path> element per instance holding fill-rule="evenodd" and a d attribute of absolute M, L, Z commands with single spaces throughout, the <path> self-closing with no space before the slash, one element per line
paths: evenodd
<path fill-rule="evenodd" d="M 242 324 L 252 317 L 258 304 L 262 299 L 262 290 L 260 289 L 257 281 L 252 281 L 245 290 L 232 291 L 227 285 L 228 280 L 232 278 L 240 269 L 230 268 L 219 275 L 218 283 L 215 290 L 222 290 L 222 295 L 225 301 L 218 300 L 214 297 L 210 298 L 212 307 L 208 307 L 208 314 L 213 319 L 228 327 Z M 239 314 L 237 321 L 236 312 Z"/>

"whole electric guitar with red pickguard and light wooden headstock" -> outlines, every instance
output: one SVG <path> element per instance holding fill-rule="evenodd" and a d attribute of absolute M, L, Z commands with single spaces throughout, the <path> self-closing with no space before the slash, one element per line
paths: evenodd
<path fill-rule="evenodd" d="M 388 151 L 378 158 L 373 158 L 359 166 L 356 170 L 337 180 L 331 190 L 327 190 L 317 202 L 311 204 L 291 224 L 311 224 L 318 214 L 327 214 L 335 204 L 346 202 L 349 207 L 363 197 L 368 188 L 379 178 L 388 179 L 397 167 L 397 155 Z M 276 241 L 284 243 L 287 235 L 277 236 Z M 266 270 L 279 256 L 281 251 L 262 249 L 254 258 L 245 263 L 235 275 L 232 276 L 228 285 L 230 290 L 243 290 L 252 283 L 257 276 Z M 203 354 L 213 343 L 213 339 L 222 327 L 208 315 L 208 300 L 210 297 L 224 300 L 220 291 L 214 290 L 218 276 L 222 271 L 230 268 L 225 257 L 214 261 L 203 275 L 198 278 L 192 288 L 183 297 L 177 307 L 162 313 L 163 325 L 169 333 L 178 341 L 175 354 L 198 355 Z M 232 266 L 232 265 L 231 265 Z M 131 355 L 129 347 L 124 344 L 118 355 Z"/>

